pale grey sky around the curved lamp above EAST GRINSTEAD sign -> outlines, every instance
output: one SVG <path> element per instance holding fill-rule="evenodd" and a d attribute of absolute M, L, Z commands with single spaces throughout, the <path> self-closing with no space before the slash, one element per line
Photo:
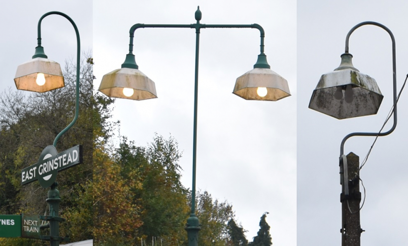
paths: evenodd
<path fill-rule="evenodd" d="M 32 59 L 37 46 L 38 20 L 49 11 L 67 14 L 78 28 L 81 50 L 92 50 L 91 0 L 15 0 L 3 3 L 0 8 L 1 92 L 7 88 L 17 90 L 13 81 L 17 66 Z M 76 62 L 75 31 L 66 18 L 59 15 L 45 17 L 41 23 L 41 38 L 48 59 L 60 63 L 63 68 L 66 61 Z"/>

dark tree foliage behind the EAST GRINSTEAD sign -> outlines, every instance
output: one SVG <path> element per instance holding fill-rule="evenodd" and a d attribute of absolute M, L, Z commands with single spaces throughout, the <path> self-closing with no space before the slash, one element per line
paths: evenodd
<path fill-rule="evenodd" d="M 90 54 L 85 54 L 90 57 Z M 21 185 L 21 170 L 38 161 L 39 154 L 52 145 L 57 134 L 73 119 L 75 111 L 75 64 L 64 69 L 65 88 L 45 93 L 11 90 L 0 94 L 0 213 L 44 215 L 48 213 L 47 189 L 38 182 Z M 58 173 L 62 202 L 60 235 L 72 241 L 92 238 L 92 63 L 80 67 L 79 118 L 58 141 L 59 152 L 83 146 L 84 162 Z M 8 81 L 5 83 L 9 83 Z M 82 216 L 84 215 L 84 216 Z M 88 215 L 88 216 L 87 216 Z M 48 229 L 46 230 L 46 233 Z M 43 245 L 28 239 L 1 239 L 0 245 Z"/>

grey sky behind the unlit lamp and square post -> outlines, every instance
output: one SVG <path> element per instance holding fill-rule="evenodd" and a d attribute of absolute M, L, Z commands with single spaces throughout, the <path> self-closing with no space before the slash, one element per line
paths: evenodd
<path fill-rule="evenodd" d="M 363 21 L 379 22 L 394 33 L 400 90 L 408 73 L 408 2 L 314 0 L 298 1 L 297 7 L 297 74 L 302 92 L 297 100 L 298 245 L 340 246 L 340 142 L 351 132 L 377 132 L 391 109 L 392 50 L 388 33 L 363 26 L 353 32 L 349 43 L 354 66 L 373 77 L 384 95 L 377 115 L 337 120 L 307 106 L 320 76 L 339 66 L 347 32 Z M 378 138 L 360 172 L 367 189 L 361 210 L 361 227 L 366 230 L 361 235 L 362 246 L 407 242 L 407 99 L 405 91 L 398 104 L 396 130 Z M 384 131 L 391 125 L 392 119 Z M 345 143 L 344 154 L 353 152 L 361 162 L 373 141 L 373 137 L 352 137 Z"/>

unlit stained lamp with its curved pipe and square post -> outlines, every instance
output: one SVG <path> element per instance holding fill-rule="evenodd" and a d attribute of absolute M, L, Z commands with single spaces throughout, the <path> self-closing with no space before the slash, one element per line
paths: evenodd
<path fill-rule="evenodd" d="M 395 39 L 392 32 L 376 22 L 362 22 L 354 26 L 346 36 L 345 52 L 341 63 L 334 72 L 323 74 L 310 98 L 309 108 L 337 119 L 347 119 L 376 114 L 383 95 L 373 78 L 353 66 L 352 55 L 348 53 L 348 41 L 356 29 L 374 25 L 387 31 L 392 41 L 393 73 L 393 114 L 394 123 L 386 132 L 354 132 L 346 135 L 340 144 L 340 183 L 342 193 L 341 245 L 360 246 L 360 235 L 364 231 L 360 226 L 359 162 L 354 154 L 344 155 L 344 144 L 353 136 L 386 136 L 397 126 L 397 72 L 395 58 Z"/>

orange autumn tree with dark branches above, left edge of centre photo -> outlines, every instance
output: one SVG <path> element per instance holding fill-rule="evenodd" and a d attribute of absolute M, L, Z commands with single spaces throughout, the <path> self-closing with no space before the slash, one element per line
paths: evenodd
<path fill-rule="evenodd" d="M 137 169 L 116 161 L 111 147 L 117 122 L 111 121 L 113 99 L 100 92 L 93 96 L 94 244 L 100 246 L 135 245 L 140 208 L 134 193 L 141 189 Z M 126 174 L 126 175 L 124 175 Z"/>

